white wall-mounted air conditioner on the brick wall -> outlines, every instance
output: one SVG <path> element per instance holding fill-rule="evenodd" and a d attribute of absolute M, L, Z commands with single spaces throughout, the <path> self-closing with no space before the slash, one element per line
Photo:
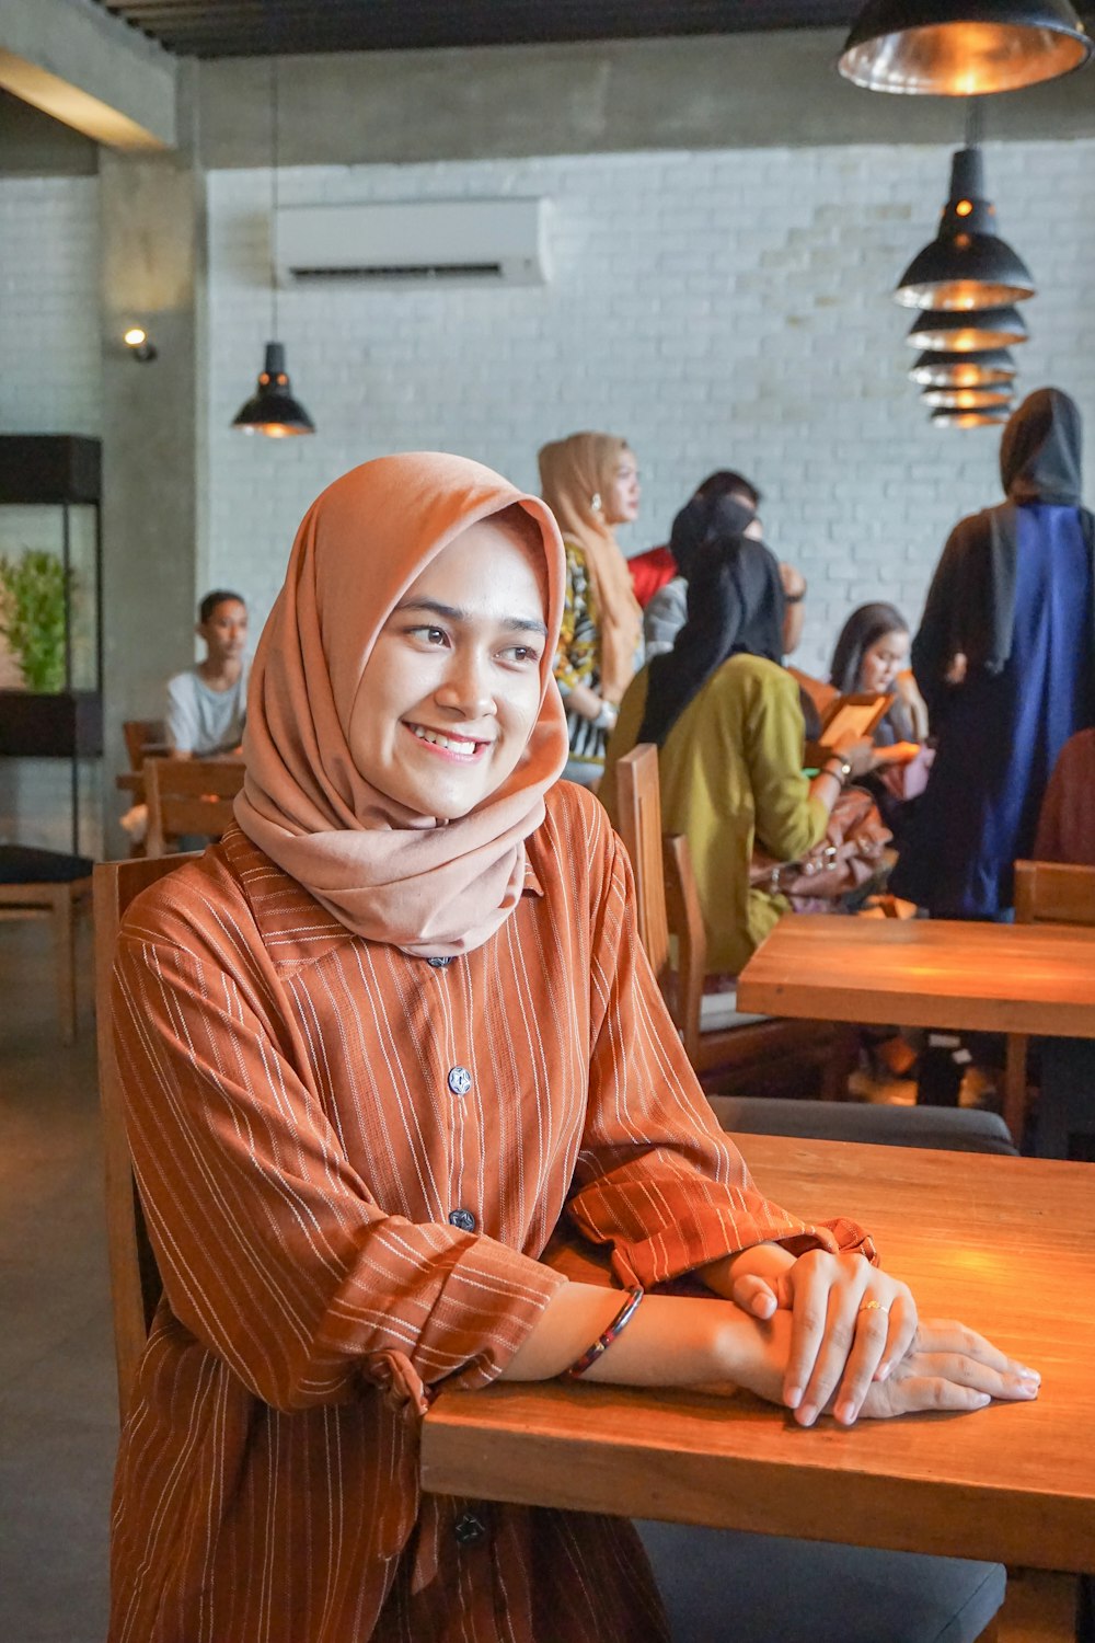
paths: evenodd
<path fill-rule="evenodd" d="M 282 286 L 535 286 L 550 200 L 397 200 L 277 212 Z"/>

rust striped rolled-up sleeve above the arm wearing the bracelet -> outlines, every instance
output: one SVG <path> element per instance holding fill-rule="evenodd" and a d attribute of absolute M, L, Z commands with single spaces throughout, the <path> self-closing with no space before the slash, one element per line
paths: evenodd
<path fill-rule="evenodd" d="M 384 1213 L 246 961 L 128 928 L 113 1001 L 135 1173 L 186 1329 L 281 1410 L 345 1401 L 360 1377 L 501 1374 L 566 1280 Z"/>

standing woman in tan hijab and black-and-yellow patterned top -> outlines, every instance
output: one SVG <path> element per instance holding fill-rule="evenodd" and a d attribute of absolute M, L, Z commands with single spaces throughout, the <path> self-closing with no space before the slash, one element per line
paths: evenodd
<path fill-rule="evenodd" d="M 555 651 L 570 738 L 563 775 L 594 787 L 619 702 L 642 660 L 642 611 L 614 536 L 639 514 L 639 467 L 616 434 L 571 434 L 540 450 L 540 486 L 566 549 Z"/>

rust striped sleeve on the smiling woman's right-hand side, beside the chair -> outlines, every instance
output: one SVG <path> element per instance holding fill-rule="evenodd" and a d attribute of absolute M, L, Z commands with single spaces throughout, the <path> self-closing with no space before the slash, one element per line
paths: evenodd
<path fill-rule="evenodd" d="M 630 866 L 614 841 L 593 950 L 589 1102 L 568 1213 L 611 1245 L 622 1283 L 665 1283 L 765 1240 L 860 1250 L 847 1219 L 809 1224 L 760 1193 L 719 1130 L 639 941 Z"/>

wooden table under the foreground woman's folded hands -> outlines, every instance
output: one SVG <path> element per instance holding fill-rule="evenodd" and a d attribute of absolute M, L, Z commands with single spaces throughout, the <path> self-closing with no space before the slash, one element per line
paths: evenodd
<path fill-rule="evenodd" d="M 1039 1400 L 806 1431 L 747 1393 L 445 1393 L 425 1418 L 424 1489 L 1095 1572 L 1095 1170 L 740 1145 L 786 1208 L 864 1222 L 923 1314 L 957 1314 L 1039 1369 Z"/>

